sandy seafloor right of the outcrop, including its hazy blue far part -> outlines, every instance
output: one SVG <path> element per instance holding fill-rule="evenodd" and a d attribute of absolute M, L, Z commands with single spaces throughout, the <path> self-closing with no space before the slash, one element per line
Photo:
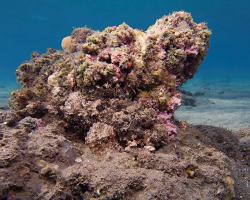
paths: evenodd
<path fill-rule="evenodd" d="M 191 92 L 194 103 L 179 108 L 179 120 L 230 130 L 250 128 L 250 80 L 194 79 L 183 89 Z"/>

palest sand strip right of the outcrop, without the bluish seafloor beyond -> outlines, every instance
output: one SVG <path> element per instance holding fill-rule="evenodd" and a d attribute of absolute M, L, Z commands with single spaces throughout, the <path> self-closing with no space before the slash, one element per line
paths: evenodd
<path fill-rule="evenodd" d="M 176 118 L 191 124 L 212 125 L 232 130 L 250 128 L 250 99 L 212 99 L 215 104 L 181 107 Z"/>

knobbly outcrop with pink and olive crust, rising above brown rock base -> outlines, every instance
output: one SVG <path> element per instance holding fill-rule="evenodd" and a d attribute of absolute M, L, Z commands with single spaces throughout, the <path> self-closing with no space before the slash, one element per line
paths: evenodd
<path fill-rule="evenodd" d="M 43 124 L 61 120 L 96 151 L 160 148 L 177 133 L 178 89 L 197 71 L 209 38 L 207 26 L 185 12 L 145 32 L 126 24 L 77 28 L 63 39 L 63 51 L 33 53 L 18 68 L 22 88 L 12 94 L 12 113 Z"/>

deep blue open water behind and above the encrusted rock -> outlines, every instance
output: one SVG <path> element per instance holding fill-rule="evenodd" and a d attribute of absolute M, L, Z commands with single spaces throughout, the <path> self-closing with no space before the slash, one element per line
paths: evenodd
<path fill-rule="evenodd" d="M 0 7 L 0 80 L 15 82 L 15 69 L 32 51 L 60 48 L 74 27 L 102 30 L 122 22 L 146 29 L 172 11 L 191 12 L 213 32 L 196 78 L 250 78 L 249 0 L 9 0 Z"/>

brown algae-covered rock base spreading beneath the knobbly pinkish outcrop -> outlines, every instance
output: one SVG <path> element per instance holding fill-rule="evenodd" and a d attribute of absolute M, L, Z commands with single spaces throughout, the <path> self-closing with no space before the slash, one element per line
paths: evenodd
<path fill-rule="evenodd" d="M 27 117 L 15 128 L 0 124 L 0 199 L 245 200 L 250 195 L 250 163 L 238 138 L 224 129 L 187 127 L 154 153 L 131 144 L 126 152 L 98 155 L 63 123 L 45 125 Z M 96 131 L 112 136 L 109 126 L 94 127 L 94 136 Z"/>

